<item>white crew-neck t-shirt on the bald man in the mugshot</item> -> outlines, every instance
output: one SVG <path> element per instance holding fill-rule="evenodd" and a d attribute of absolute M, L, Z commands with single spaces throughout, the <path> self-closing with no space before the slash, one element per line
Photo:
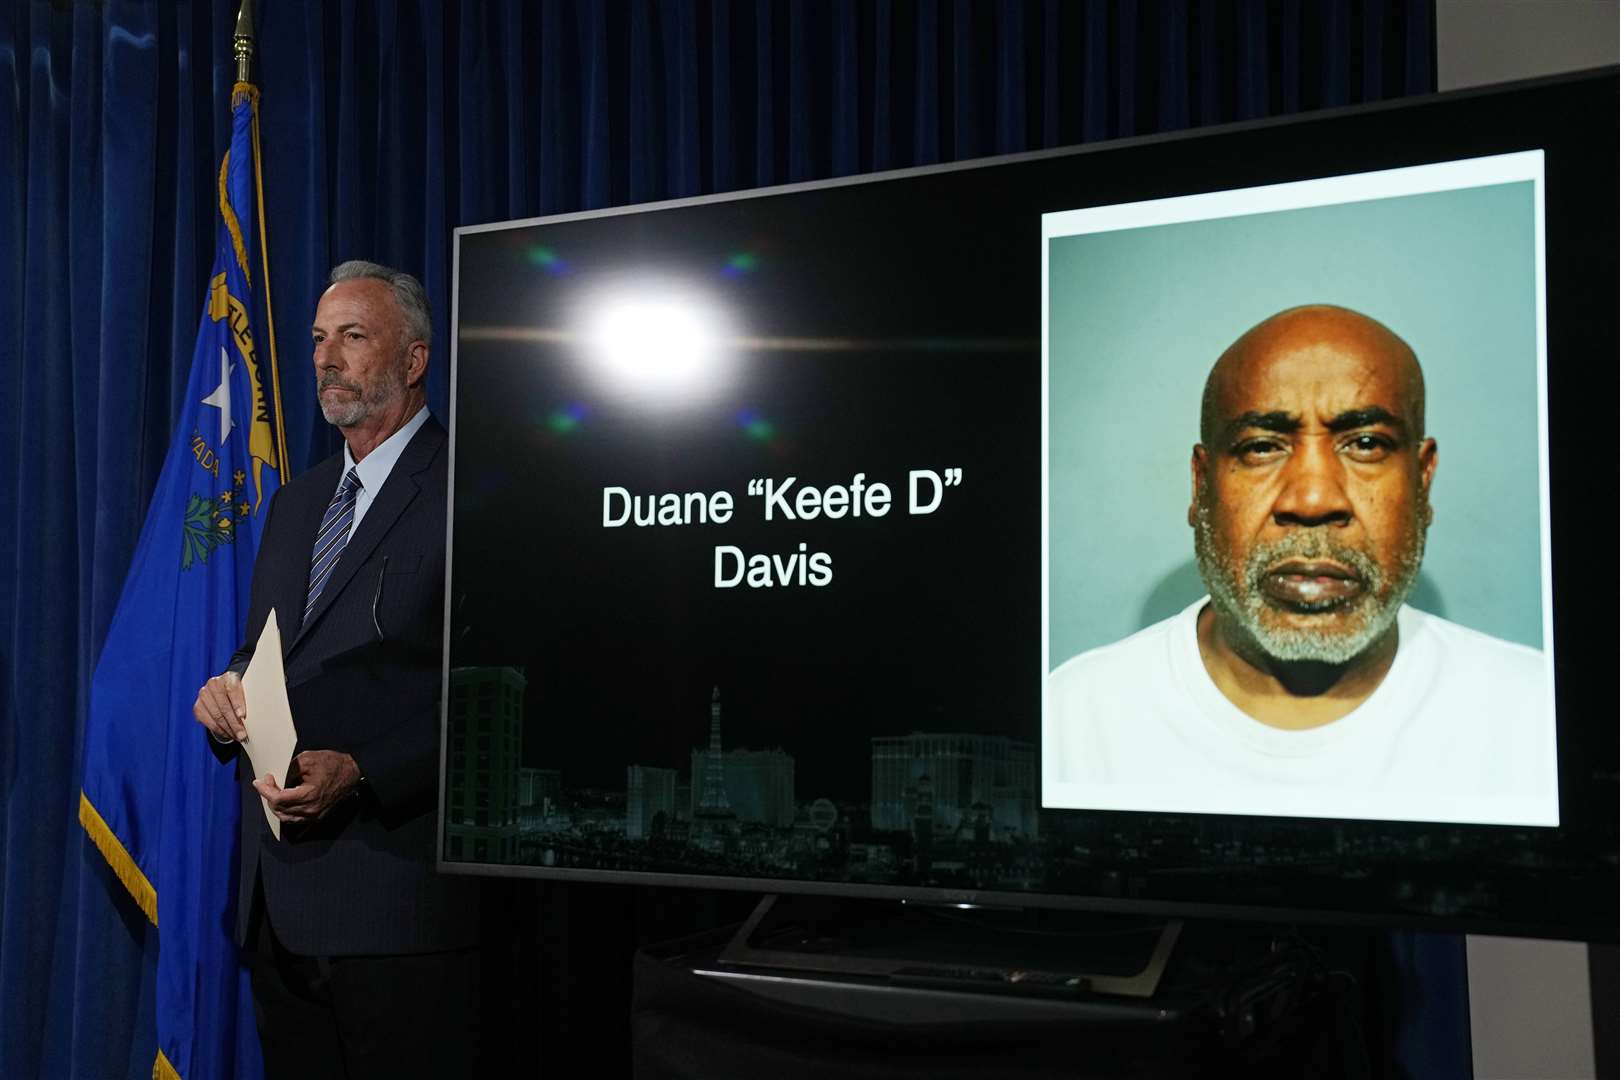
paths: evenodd
<path fill-rule="evenodd" d="M 1199 654 L 1209 599 L 1082 653 L 1047 685 L 1056 785 L 1043 805 L 1481 824 L 1557 824 L 1545 657 L 1401 607 L 1395 661 L 1353 712 L 1268 727 Z"/>

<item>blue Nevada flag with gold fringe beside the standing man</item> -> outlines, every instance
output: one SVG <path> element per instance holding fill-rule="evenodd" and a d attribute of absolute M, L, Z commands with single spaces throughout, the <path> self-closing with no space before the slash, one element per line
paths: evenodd
<path fill-rule="evenodd" d="M 237 923 L 238 793 L 191 717 L 248 614 L 253 555 L 285 479 L 274 359 L 254 348 L 258 91 L 238 83 L 214 267 L 185 408 L 91 680 L 79 821 L 157 926 L 152 1075 L 264 1069 Z"/>

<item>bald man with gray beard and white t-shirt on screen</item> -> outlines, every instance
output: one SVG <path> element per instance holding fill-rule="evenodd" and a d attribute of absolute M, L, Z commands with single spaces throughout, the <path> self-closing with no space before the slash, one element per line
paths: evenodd
<path fill-rule="evenodd" d="M 1406 604 L 1440 471 L 1424 405 L 1411 347 L 1348 308 L 1220 355 L 1187 507 L 1209 594 L 1051 674 L 1063 780 L 1160 792 L 1144 810 L 1550 824 L 1542 654 Z"/>

